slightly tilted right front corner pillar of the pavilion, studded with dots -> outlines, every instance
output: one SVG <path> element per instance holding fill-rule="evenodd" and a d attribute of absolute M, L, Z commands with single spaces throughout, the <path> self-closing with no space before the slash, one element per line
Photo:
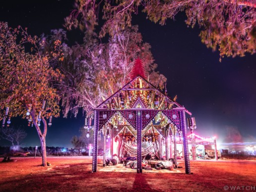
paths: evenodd
<path fill-rule="evenodd" d="M 190 153 L 189 153 L 189 145 L 188 145 L 188 137 L 187 137 L 185 111 L 181 111 L 181 128 L 182 128 L 182 135 L 183 135 L 185 169 L 186 169 L 186 174 L 190 174 L 191 173 L 191 170 L 190 170 Z"/>

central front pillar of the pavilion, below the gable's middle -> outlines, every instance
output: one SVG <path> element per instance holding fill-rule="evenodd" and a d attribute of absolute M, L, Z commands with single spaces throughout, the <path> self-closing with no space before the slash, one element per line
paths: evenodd
<path fill-rule="evenodd" d="M 141 129 L 142 129 L 142 112 L 136 111 L 136 129 L 137 129 L 137 173 L 142 173 L 141 166 Z"/>

